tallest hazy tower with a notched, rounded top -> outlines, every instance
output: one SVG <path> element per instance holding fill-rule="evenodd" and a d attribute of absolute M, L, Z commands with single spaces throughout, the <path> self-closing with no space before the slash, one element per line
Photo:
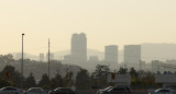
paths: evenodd
<path fill-rule="evenodd" d="M 73 34 L 72 36 L 72 59 L 74 61 L 87 61 L 87 37 L 86 34 Z"/>

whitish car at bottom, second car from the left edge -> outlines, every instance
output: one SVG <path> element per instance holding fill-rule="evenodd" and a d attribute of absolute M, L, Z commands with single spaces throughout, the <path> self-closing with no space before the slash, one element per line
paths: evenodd
<path fill-rule="evenodd" d="M 31 87 L 25 94 L 47 94 L 42 87 Z"/>

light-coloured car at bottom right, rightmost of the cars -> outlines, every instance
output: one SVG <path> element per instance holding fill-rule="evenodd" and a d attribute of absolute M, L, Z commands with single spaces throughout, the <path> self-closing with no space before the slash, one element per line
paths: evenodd
<path fill-rule="evenodd" d="M 150 92 L 148 94 L 174 94 L 174 91 L 172 89 L 158 89 L 154 92 Z"/>

